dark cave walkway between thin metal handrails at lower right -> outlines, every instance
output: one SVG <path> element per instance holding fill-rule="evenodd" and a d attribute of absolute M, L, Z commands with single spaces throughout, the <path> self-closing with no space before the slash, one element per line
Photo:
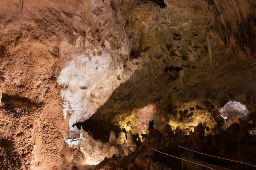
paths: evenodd
<path fill-rule="evenodd" d="M 184 136 L 178 141 L 177 137 L 173 137 L 160 142 L 152 150 L 153 159 L 165 164 L 166 167 L 171 167 L 172 170 L 256 170 L 256 166 L 252 164 L 224 159 L 180 146 L 188 139 L 190 137 Z"/>

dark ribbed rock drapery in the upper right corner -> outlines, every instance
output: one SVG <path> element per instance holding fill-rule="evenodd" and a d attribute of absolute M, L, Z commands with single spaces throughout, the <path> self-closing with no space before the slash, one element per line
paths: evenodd
<path fill-rule="evenodd" d="M 256 56 L 256 2 L 254 0 L 204 0 L 211 19 L 226 45 Z"/>

